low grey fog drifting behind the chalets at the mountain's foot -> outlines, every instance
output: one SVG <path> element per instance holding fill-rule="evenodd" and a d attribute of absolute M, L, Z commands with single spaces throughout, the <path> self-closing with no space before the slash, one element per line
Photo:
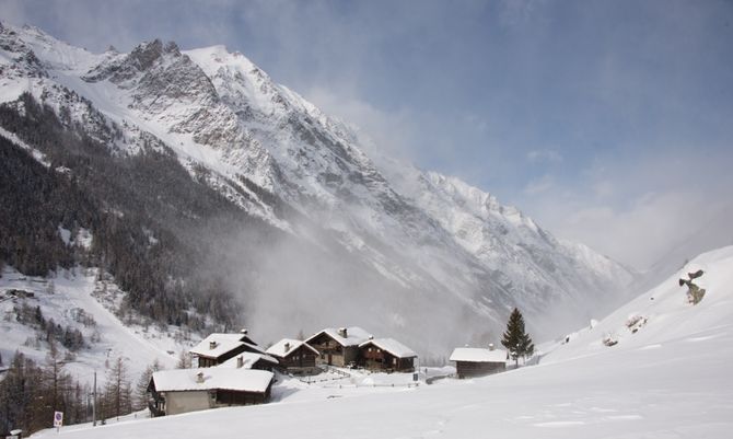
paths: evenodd
<path fill-rule="evenodd" d="M 242 308 L 237 324 L 263 346 L 325 327 L 361 326 L 375 337 L 400 340 L 423 363 L 443 363 L 454 347 L 500 343 L 516 303 L 486 269 L 469 267 L 465 279 L 447 286 L 441 269 L 418 263 L 429 245 L 386 254 L 377 269 L 374 258 L 388 250 L 374 238 L 366 236 L 365 246 L 384 253 L 347 250 L 337 232 L 304 219 L 294 229 L 298 236 L 252 224 L 219 228 L 210 240 L 217 244 L 209 261 L 216 263 L 200 267 L 233 293 Z M 603 316 L 571 303 L 539 299 L 521 309 L 536 343 Z"/>

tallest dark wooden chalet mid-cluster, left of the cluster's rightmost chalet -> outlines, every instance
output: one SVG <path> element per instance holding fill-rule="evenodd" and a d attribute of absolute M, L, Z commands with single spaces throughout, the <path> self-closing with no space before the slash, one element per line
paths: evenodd
<path fill-rule="evenodd" d="M 359 360 L 359 345 L 368 340 L 369 333 L 361 327 L 327 327 L 305 343 L 318 351 L 316 363 L 338 367 L 356 365 Z"/>

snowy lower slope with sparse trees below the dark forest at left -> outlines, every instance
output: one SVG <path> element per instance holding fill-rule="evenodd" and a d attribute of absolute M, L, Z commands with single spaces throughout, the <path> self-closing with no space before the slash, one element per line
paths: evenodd
<path fill-rule="evenodd" d="M 7 296 L 7 291 L 12 289 L 33 292 L 34 297 L 12 299 Z M 23 276 L 5 267 L 0 277 L 0 310 L 4 316 L 0 322 L 0 354 L 3 361 L 9 363 L 16 350 L 40 365 L 47 361 L 47 342 L 36 342 L 38 333 L 15 320 L 13 308 L 25 303 L 32 308 L 39 307 L 46 321 L 53 319 L 62 327 L 71 326 L 82 332 L 88 346 L 65 360 L 65 370 L 81 382 L 91 382 L 95 370 L 103 381 L 107 360 L 114 363 L 117 357 L 126 359 L 132 381 L 155 359 L 164 368 L 173 368 L 179 351 L 186 350 L 188 343 L 181 339 L 181 335 L 177 342 L 173 334 L 176 328 L 173 327 L 165 333 L 123 323 L 112 312 L 119 304 L 121 294 L 114 282 L 100 280 L 96 269 L 61 270 L 55 277 L 40 278 Z M 94 323 L 80 322 L 80 311 Z M 98 340 L 94 340 L 95 337 Z M 63 354 L 67 353 L 60 344 L 57 343 L 57 346 Z"/>

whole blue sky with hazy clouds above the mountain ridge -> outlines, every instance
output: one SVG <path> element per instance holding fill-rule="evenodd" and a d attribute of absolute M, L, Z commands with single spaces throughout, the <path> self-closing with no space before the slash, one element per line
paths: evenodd
<path fill-rule="evenodd" d="M 0 12 L 93 51 L 225 44 L 385 152 L 638 268 L 733 243 L 731 1 L 0 0 Z"/>

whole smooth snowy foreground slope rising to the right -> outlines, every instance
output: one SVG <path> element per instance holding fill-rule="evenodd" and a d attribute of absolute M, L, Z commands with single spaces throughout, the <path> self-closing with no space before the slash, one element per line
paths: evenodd
<path fill-rule="evenodd" d="M 699 268 L 707 296 L 693 307 L 677 279 Z M 618 343 L 604 346 L 606 337 Z M 268 405 L 35 437 L 730 438 L 733 247 L 696 258 L 568 343 L 544 348 L 537 366 L 484 379 L 417 389 L 302 385 Z"/>

